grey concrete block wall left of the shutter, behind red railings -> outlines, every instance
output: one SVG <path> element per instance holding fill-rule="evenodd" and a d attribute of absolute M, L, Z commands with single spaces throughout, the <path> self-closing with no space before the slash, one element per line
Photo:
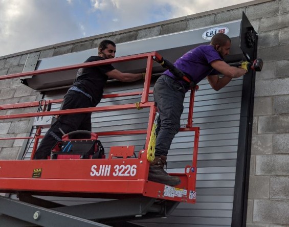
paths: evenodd
<path fill-rule="evenodd" d="M 15 55 L 0 58 L 0 75 L 8 75 L 23 72 L 28 54 Z M 40 94 L 35 93 L 31 88 L 24 86 L 19 78 L 0 81 L 0 106 L 30 102 L 40 99 Z M 26 112 L 35 111 L 35 108 L 27 108 Z M 0 115 L 23 113 L 24 109 L 0 110 Z M 31 119 L 7 119 L 0 121 L 0 138 L 27 137 L 31 130 Z M 20 151 L 23 151 L 25 140 L 0 140 L 0 159 L 14 160 L 18 158 Z"/>

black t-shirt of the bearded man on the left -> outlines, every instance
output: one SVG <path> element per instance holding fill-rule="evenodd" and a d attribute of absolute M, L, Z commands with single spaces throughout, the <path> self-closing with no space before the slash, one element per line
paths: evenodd
<path fill-rule="evenodd" d="M 84 62 L 104 60 L 99 56 L 91 56 Z M 83 92 L 90 94 L 93 98 L 94 105 L 97 105 L 103 95 L 103 88 L 107 81 L 105 73 L 114 70 L 111 64 L 104 64 L 93 67 L 80 68 L 77 72 L 73 86 L 77 86 Z"/>

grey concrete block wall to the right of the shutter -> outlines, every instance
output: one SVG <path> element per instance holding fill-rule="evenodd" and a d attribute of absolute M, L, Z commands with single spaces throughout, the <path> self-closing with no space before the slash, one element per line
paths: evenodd
<path fill-rule="evenodd" d="M 247 226 L 289 226 L 289 1 L 252 6 L 247 15 L 258 24 L 264 60 L 256 74 Z"/>

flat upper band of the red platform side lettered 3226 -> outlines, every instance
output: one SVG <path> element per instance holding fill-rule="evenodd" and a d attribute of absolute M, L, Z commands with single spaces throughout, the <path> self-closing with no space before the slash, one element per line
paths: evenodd
<path fill-rule="evenodd" d="M 109 179 L 138 180 L 148 163 L 141 164 L 138 158 L 89 159 L 89 160 L 31 160 L 0 161 L 0 177 L 8 178 L 41 178 L 41 179 Z M 117 166 L 135 165 L 136 171 L 128 167 L 117 174 Z M 148 168 L 148 166 L 147 166 Z M 103 170 L 103 171 L 102 171 Z M 130 171 L 128 171 L 130 170 Z M 38 176 L 36 173 L 39 172 Z M 98 175 L 99 173 L 99 175 Z M 34 177 L 32 176 L 34 174 Z"/>

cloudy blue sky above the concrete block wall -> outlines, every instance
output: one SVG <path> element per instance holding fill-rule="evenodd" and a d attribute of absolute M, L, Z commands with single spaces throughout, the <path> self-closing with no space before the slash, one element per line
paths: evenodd
<path fill-rule="evenodd" d="M 252 0 L 0 0 L 0 56 Z"/>

